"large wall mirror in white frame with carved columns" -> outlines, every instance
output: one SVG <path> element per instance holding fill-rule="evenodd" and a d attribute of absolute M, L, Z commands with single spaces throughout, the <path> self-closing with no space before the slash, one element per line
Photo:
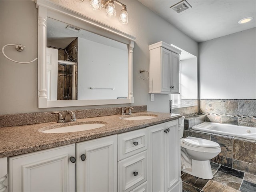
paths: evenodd
<path fill-rule="evenodd" d="M 135 38 L 46 0 L 38 8 L 38 107 L 133 103 Z"/>

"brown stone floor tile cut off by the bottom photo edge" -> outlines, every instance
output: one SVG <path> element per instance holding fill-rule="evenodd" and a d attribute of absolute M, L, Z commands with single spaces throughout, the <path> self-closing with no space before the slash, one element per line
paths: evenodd
<path fill-rule="evenodd" d="M 203 188 L 204 192 L 239 192 L 238 190 L 226 186 L 220 182 L 209 180 Z"/>

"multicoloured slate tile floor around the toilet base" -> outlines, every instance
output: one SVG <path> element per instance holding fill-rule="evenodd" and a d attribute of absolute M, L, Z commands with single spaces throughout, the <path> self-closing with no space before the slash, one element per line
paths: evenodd
<path fill-rule="evenodd" d="M 211 162 L 213 178 L 182 172 L 183 192 L 256 192 L 256 175 Z"/>

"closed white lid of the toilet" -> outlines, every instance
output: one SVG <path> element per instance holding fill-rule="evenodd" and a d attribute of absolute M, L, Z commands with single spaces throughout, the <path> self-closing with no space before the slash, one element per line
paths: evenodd
<path fill-rule="evenodd" d="M 196 147 L 207 147 L 207 148 L 217 148 L 220 145 L 214 141 L 210 141 L 207 139 L 196 138 L 196 137 L 187 137 L 183 139 L 185 144 Z"/>

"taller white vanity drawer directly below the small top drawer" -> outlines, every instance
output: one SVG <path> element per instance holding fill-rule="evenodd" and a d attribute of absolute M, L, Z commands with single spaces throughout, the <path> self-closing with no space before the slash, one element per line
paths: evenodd
<path fill-rule="evenodd" d="M 118 191 L 128 192 L 147 180 L 147 152 L 118 162 Z"/>

